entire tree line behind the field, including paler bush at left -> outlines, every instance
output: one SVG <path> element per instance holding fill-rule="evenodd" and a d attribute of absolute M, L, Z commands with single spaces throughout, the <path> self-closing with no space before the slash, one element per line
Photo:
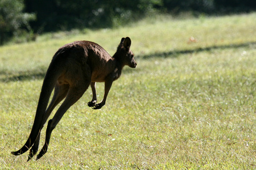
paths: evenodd
<path fill-rule="evenodd" d="M 255 11 L 251 0 L 0 0 L 0 45 L 10 37 L 73 28 L 111 28 L 156 12 L 221 15 Z"/>

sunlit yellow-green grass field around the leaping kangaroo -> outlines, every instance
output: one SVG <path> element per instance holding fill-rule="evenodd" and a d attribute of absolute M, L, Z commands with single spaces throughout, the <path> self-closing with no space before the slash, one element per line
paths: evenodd
<path fill-rule="evenodd" d="M 255 18 L 156 16 L 1 46 L 0 169 L 256 169 Z M 113 54 L 126 36 L 138 66 L 125 67 L 106 105 L 87 107 L 89 89 L 53 130 L 46 155 L 11 155 L 27 140 L 56 50 L 90 40 Z M 104 84 L 97 93 L 101 100 Z"/>

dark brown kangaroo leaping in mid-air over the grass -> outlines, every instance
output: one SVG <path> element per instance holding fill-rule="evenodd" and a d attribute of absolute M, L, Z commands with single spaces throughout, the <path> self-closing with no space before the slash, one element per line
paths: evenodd
<path fill-rule="evenodd" d="M 93 109 L 102 108 L 106 103 L 113 81 L 121 76 L 123 67 L 127 65 L 135 68 L 137 66 L 130 46 L 131 39 L 129 37 L 122 38 L 113 57 L 100 45 L 90 41 L 75 41 L 57 50 L 44 77 L 30 136 L 20 150 L 11 152 L 11 154 L 21 155 L 31 148 L 27 161 L 36 154 L 41 130 L 53 109 L 64 98 L 65 100 L 57 109 L 55 116 L 48 121 L 46 140 L 42 150 L 36 156 L 36 160 L 46 154 L 52 130 L 55 129 L 61 117 L 82 97 L 89 86 L 92 88 L 93 97 L 88 106 Z M 98 104 L 96 104 L 96 82 L 105 82 L 104 98 Z M 54 94 L 48 105 L 53 89 Z"/>

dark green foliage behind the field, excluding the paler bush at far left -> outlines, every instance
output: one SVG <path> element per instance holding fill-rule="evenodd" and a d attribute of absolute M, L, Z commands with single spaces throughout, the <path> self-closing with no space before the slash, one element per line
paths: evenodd
<path fill-rule="evenodd" d="M 32 27 L 39 32 L 72 28 L 104 28 L 122 25 L 159 10 L 224 14 L 256 9 L 251 0 L 25 0 L 26 12 L 34 12 Z"/>

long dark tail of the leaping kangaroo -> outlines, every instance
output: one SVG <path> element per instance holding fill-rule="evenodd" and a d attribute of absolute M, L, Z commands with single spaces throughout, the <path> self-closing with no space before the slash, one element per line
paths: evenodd
<path fill-rule="evenodd" d="M 24 144 L 24 146 L 20 148 L 20 150 L 11 152 L 11 154 L 13 155 L 21 155 L 29 150 L 30 147 L 34 145 L 36 138 L 38 137 L 38 134 L 43 127 L 43 119 L 46 113 L 49 98 L 51 96 L 53 88 L 55 87 L 57 78 L 59 78 L 59 75 L 61 74 L 61 70 L 58 70 L 55 67 L 57 62 L 56 57 L 58 56 L 58 54 L 60 54 L 60 50 L 56 52 L 55 56 L 53 56 L 52 62 L 49 65 L 46 76 L 44 78 L 42 90 L 38 101 L 38 108 L 36 109 L 35 120 L 31 129 L 30 136 L 28 137 L 27 142 Z"/>

